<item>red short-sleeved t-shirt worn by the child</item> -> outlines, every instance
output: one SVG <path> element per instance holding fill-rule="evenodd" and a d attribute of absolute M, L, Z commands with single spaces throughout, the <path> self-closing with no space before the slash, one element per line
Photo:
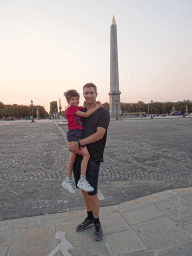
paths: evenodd
<path fill-rule="evenodd" d="M 81 111 L 83 107 L 74 107 L 74 106 L 69 106 L 66 110 L 66 118 L 68 121 L 68 129 L 80 129 L 83 130 L 83 123 L 80 118 L 80 116 L 76 116 L 75 113 L 77 111 Z"/>

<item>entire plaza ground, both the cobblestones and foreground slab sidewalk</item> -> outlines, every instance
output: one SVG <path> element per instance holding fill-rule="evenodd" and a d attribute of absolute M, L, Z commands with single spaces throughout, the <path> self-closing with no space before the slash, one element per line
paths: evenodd
<path fill-rule="evenodd" d="M 192 119 L 111 122 L 100 172 L 100 242 L 93 228 L 75 231 L 86 216 L 80 192 L 70 208 L 59 185 L 66 125 L 41 121 L 0 122 L 0 255 L 192 255 Z"/>

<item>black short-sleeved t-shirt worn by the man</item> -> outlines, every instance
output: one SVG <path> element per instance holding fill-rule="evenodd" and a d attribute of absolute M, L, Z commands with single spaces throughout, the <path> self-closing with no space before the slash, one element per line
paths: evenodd
<path fill-rule="evenodd" d="M 86 112 L 87 109 L 85 108 L 82 111 Z M 84 127 L 83 138 L 87 138 L 93 133 L 96 133 L 97 127 L 106 129 L 105 135 L 101 140 L 86 145 L 90 154 L 90 160 L 95 162 L 103 162 L 103 152 L 107 139 L 107 128 L 110 121 L 109 111 L 104 108 L 99 108 L 92 115 L 86 118 L 82 118 L 82 120 Z"/>

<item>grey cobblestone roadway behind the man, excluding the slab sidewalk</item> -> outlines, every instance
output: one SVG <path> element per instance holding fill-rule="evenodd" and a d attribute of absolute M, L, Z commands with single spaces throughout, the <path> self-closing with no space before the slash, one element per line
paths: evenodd
<path fill-rule="evenodd" d="M 111 121 L 100 169 L 100 205 L 192 185 L 192 118 Z M 61 187 L 66 124 L 0 122 L 0 219 L 84 207 Z"/>

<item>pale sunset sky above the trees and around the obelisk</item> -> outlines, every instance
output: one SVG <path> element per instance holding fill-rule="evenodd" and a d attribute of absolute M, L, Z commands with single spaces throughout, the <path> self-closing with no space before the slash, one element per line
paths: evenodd
<path fill-rule="evenodd" d="M 0 101 L 64 110 L 93 82 L 109 102 L 113 15 L 121 102 L 192 100 L 191 0 L 0 0 Z"/>

